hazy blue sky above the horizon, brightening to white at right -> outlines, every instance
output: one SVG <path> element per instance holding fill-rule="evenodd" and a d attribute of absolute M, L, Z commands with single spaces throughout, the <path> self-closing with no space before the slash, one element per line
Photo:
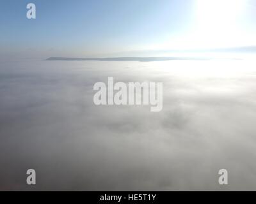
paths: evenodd
<path fill-rule="evenodd" d="M 28 3 L 36 19 L 26 18 Z M 253 0 L 1 0 L 0 54 L 100 57 L 255 46 Z"/>

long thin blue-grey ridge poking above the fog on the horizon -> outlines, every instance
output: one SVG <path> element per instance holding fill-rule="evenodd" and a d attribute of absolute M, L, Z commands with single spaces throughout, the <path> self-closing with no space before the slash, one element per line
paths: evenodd
<path fill-rule="evenodd" d="M 49 57 L 47 61 L 139 61 L 139 62 L 152 62 L 152 61 L 170 61 L 170 60 L 209 60 L 211 58 L 203 57 Z"/>

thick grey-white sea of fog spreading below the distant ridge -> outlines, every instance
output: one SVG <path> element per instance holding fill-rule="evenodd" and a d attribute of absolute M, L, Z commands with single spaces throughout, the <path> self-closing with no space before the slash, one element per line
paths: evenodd
<path fill-rule="evenodd" d="M 94 105 L 108 77 L 163 82 L 163 110 Z M 253 59 L 1 61 L 0 190 L 256 190 L 255 93 Z"/>

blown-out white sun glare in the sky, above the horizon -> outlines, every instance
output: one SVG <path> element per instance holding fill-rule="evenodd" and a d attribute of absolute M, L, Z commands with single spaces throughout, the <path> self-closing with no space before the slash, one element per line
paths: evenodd
<path fill-rule="evenodd" d="M 207 49 L 250 44 L 252 38 L 240 27 L 245 6 L 246 0 L 197 0 L 193 31 L 172 41 L 172 46 Z"/>

